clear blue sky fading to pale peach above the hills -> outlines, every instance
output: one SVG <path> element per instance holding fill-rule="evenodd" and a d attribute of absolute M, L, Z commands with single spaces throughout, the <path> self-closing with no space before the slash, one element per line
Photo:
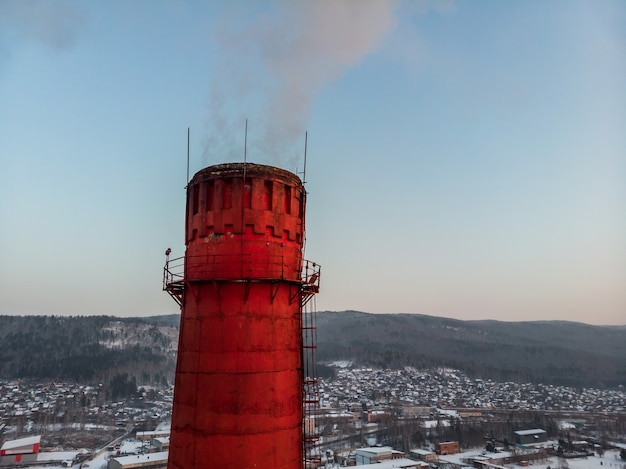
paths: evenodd
<path fill-rule="evenodd" d="M 318 311 L 626 324 L 621 0 L 0 0 L 0 314 L 178 312 L 187 129 L 246 120 Z"/>

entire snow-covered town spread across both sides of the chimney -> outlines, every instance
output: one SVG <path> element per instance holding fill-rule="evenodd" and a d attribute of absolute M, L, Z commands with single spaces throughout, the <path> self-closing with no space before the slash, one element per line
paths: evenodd
<path fill-rule="evenodd" d="M 305 425 L 315 435 L 321 467 L 384 469 L 385 461 L 404 468 L 516 467 L 507 464 L 526 461 L 556 468 L 565 467 L 557 462 L 565 458 L 576 468 L 589 467 L 576 465 L 584 458 L 586 464 L 597 458 L 593 466 L 599 466 L 609 456 L 612 467 L 626 467 L 623 388 L 498 383 L 450 368 L 327 366 L 334 376 L 318 380 L 319 409 Z M 0 381 L 0 465 L 166 467 L 173 386 L 138 386 L 114 401 L 103 389 Z"/>

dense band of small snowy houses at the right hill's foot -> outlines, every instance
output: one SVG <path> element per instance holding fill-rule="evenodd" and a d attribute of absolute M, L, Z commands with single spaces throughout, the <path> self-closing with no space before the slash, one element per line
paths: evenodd
<path fill-rule="evenodd" d="M 335 362 L 334 379 L 320 379 L 322 407 L 379 405 L 489 410 L 626 412 L 626 389 L 574 389 L 542 384 L 496 383 L 439 368 L 374 370 Z"/>

